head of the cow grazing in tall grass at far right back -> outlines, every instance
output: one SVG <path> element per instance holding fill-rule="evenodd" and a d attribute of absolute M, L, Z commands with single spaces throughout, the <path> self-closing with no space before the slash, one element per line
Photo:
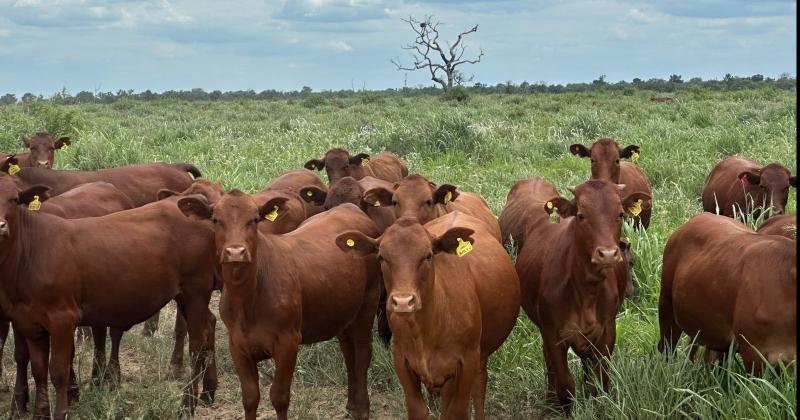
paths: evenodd
<path fill-rule="evenodd" d="M 777 216 L 786 211 L 789 201 L 789 187 L 797 187 L 797 177 L 780 163 L 770 163 L 760 171 L 745 171 L 739 174 L 742 184 L 753 196 L 755 205 L 772 202 L 772 215 Z"/>

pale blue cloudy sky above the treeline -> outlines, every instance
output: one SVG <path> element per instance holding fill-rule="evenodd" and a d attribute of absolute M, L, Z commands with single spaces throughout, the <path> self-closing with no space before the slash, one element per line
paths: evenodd
<path fill-rule="evenodd" d="M 797 73 L 783 0 L 0 0 L 0 94 L 430 86 L 401 19 L 465 39 L 485 84 Z M 406 79 L 407 78 L 407 79 Z"/>

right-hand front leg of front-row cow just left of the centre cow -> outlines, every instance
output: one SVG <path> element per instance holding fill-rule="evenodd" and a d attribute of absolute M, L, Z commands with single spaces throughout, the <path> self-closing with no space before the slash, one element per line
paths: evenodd
<path fill-rule="evenodd" d="M 278 420 L 288 419 L 289 397 L 292 390 L 292 377 L 297 365 L 297 351 L 300 348 L 300 333 L 287 333 L 279 336 L 275 343 L 272 358 L 275 360 L 275 378 L 269 387 L 269 400 Z"/>

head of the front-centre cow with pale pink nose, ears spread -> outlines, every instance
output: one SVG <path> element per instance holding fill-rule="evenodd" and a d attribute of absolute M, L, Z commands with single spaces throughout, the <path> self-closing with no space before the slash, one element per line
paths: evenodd
<path fill-rule="evenodd" d="M 386 310 L 413 313 L 422 309 L 435 281 L 434 257 L 442 252 L 455 254 L 463 242 L 474 243 L 474 231 L 453 227 L 434 237 L 414 218 L 402 218 L 378 239 L 361 232 L 345 232 L 336 238 L 344 252 L 377 254 L 386 286 Z"/>

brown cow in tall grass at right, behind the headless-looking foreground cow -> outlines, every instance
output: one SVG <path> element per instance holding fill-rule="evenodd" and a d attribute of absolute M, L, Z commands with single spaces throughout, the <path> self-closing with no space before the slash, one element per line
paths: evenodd
<path fill-rule="evenodd" d="M 780 163 L 762 167 L 750 159 L 729 156 L 706 178 L 703 210 L 717 213 L 719 208 L 719 214 L 733 217 L 734 208 L 737 213 L 753 208 L 753 217 L 758 218 L 771 200 L 772 215 L 783 214 L 789 200 L 789 187 L 796 187 L 796 182 L 796 177 Z"/>

